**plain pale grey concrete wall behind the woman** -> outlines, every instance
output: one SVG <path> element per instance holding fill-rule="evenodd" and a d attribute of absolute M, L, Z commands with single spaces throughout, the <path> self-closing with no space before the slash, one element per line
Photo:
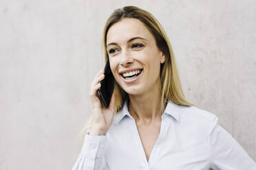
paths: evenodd
<path fill-rule="evenodd" d="M 103 68 L 105 21 L 136 5 L 166 30 L 191 103 L 256 160 L 254 0 L 0 0 L 0 169 L 71 169 Z"/>

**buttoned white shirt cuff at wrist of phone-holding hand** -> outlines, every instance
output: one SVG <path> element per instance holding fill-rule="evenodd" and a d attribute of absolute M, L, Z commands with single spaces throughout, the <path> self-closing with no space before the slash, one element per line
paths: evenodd
<path fill-rule="evenodd" d="M 81 154 L 85 155 L 85 157 L 89 159 L 96 159 L 104 156 L 106 141 L 106 135 L 89 135 L 89 132 L 87 130 Z"/>

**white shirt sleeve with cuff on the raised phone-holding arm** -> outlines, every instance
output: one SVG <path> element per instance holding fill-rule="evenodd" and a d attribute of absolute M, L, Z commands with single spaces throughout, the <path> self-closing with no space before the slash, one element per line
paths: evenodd
<path fill-rule="evenodd" d="M 106 135 L 85 135 L 85 141 L 72 170 L 109 170 L 105 160 Z"/>

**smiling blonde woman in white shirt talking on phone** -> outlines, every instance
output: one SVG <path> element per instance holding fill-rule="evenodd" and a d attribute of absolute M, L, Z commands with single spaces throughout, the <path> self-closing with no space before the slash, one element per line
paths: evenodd
<path fill-rule="evenodd" d="M 92 117 L 73 170 L 256 169 L 246 151 L 182 93 L 171 45 L 145 10 L 116 10 L 104 30 L 105 59 L 116 80 L 109 108 L 96 95 Z M 89 127 L 89 128 L 87 128 Z"/>

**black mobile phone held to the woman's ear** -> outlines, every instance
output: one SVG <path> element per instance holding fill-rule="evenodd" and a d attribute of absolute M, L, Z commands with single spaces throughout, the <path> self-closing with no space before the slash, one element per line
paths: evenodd
<path fill-rule="evenodd" d="M 105 77 L 102 81 L 100 81 L 100 88 L 97 90 L 97 93 L 101 103 L 104 104 L 105 108 L 109 108 L 115 82 L 114 75 L 110 69 L 109 59 L 107 59 L 104 70 Z"/>

